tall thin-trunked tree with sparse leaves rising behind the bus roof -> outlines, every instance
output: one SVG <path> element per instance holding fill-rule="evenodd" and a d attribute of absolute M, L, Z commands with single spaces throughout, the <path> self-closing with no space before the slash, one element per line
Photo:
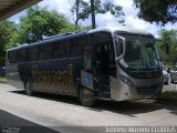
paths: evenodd
<path fill-rule="evenodd" d="M 121 17 L 124 16 L 122 11 L 122 7 L 116 6 L 110 1 L 106 1 L 105 3 L 102 3 L 101 0 L 90 0 L 90 2 L 86 2 L 84 0 L 76 0 L 72 7 L 73 14 L 76 13 L 76 23 L 79 20 L 85 20 L 90 17 L 92 17 L 92 27 L 93 29 L 96 27 L 95 22 L 95 14 L 97 13 L 106 13 L 111 12 L 114 17 Z M 124 22 L 123 20 L 118 22 Z M 75 24 L 76 24 L 75 23 Z"/>

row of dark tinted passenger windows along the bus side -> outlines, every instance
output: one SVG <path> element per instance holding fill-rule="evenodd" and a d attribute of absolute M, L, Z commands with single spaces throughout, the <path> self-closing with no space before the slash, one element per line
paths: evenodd
<path fill-rule="evenodd" d="M 38 60 L 79 58 L 87 43 L 87 38 L 82 37 L 80 39 L 71 39 L 70 41 L 62 40 L 40 45 L 24 47 L 19 50 L 9 51 L 8 59 L 9 63 L 17 63 Z"/>

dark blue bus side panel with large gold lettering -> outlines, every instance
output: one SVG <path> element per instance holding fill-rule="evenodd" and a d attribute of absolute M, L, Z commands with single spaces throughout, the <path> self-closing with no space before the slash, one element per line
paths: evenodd
<path fill-rule="evenodd" d="M 35 74 L 33 74 L 35 69 Z M 81 76 L 81 60 L 40 61 L 30 65 L 31 76 L 37 83 L 35 91 L 76 95 Z"/>

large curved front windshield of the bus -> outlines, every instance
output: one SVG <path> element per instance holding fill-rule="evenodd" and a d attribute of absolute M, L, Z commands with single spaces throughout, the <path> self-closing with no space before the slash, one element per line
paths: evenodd
<path fill-rule="evenodd" d="M 119 63 L 131 70 L 152 70 L 159 68 L 155 40 L 149 35 L 121 34 L 126 40 L 125 55 Z"/>

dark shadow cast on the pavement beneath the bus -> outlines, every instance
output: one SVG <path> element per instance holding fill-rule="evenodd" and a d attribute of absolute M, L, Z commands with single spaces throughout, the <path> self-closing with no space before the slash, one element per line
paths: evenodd
<path fill-rule="evenodd" d="M 24 91 L 11 91 L 12 93 L 25 95 Z M 49 101 L 63 102 L 66 104 L 73 104 L 77 106 L 82 106 L 79 100 L 74 96 L 66 96 L 60 94 L 46 94 L 46 93 L 34 93 L 34 98 L 45 99 Z M 162 109 L 169 110 L 170 113 L 177 115 L 177 108 L 170 106 L 167 104 L 158 104 L 154 101 L 144 100 L 144 101 L 134 101 L 134 102 L 113 102 L 113 101 L 96 101 L 94 106 L 86 108 L 87 110 L 103 112 L 110 111 L 113 113 L 124 114 L 128 116 L 136 116 L 139 113 L 148 113 Z"/>

